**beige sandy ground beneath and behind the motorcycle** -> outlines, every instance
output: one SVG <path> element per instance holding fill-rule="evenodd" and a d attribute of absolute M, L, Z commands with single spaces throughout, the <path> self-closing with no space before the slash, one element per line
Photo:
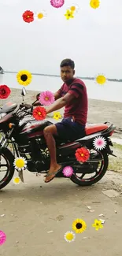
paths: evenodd
<path fill-rule="evenodd" d="M 37 91 L 28 91 L 25 102 L 34 101 L 36 94 Z M 9 100 L 21 102 L 20 91 L 13 89 Z M 120 128 L 121 113 L 121 103 L 89 100 L 90 123 L 111 121 Z M 108 196 L 103 194 L 106 191 Z M 121 194 L 122 175 L 119 173 L 107 172 L 98 184 L 78 187 L 68 179 L 54 179 L 45 184 L 43 175 L 24 172 L 24 184 L 16 185 L 11 181 L 0 191 L 0 230 L 6 233 L 0 255 L 120 256 Z M 91 206 L 91 210 L 87 206 Z M 73 243 L 67 243 L 65 232 L 72 231 L 72 221 L 77 218 L 86 221 L 87 229 L 76 234 Z M 92 227 L 96 218 L 105 220 L 98 232 Z"/>

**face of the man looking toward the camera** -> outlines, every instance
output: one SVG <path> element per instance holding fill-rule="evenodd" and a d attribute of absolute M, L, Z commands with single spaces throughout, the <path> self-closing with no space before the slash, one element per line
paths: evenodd
<path fill-rule="evenodd" d="M 70 66 L 65 66 L 61 68 L 61 80 L 63 82 L 67 82 L 72 79 L 75 74 L 75 70 L 73 70 Z"/>

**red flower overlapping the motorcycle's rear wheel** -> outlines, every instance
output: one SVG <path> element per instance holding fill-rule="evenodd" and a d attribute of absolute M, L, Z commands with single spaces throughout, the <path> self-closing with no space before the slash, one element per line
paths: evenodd
<path fill-rule="evenodd" d="M 77 161 L 87 161 L 87 159 L 90 157 L 90 152 L 85 147 L 80 147 L 76 150 L 76 160 Z"/>

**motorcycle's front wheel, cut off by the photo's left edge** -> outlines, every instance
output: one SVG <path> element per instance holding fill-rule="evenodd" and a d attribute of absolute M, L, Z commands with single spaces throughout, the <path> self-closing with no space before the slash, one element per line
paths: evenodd
<path fill-rule="evenodd" d="M 13 178 L 13 154 L 6 148 L 0 149 L 0 189 L 6 187 Z"/>

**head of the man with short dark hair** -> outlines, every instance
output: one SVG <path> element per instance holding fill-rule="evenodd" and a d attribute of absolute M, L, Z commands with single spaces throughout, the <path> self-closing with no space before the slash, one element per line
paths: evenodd
<path fill-rule="evenodd" d="M 75 74 L 75 63 L 69 58 L 66 58 L 65 60 L 61 61 L 61 79 L 64 82 L 67 82 L 68 80 L 72 80 L 74 74 Z"/>

